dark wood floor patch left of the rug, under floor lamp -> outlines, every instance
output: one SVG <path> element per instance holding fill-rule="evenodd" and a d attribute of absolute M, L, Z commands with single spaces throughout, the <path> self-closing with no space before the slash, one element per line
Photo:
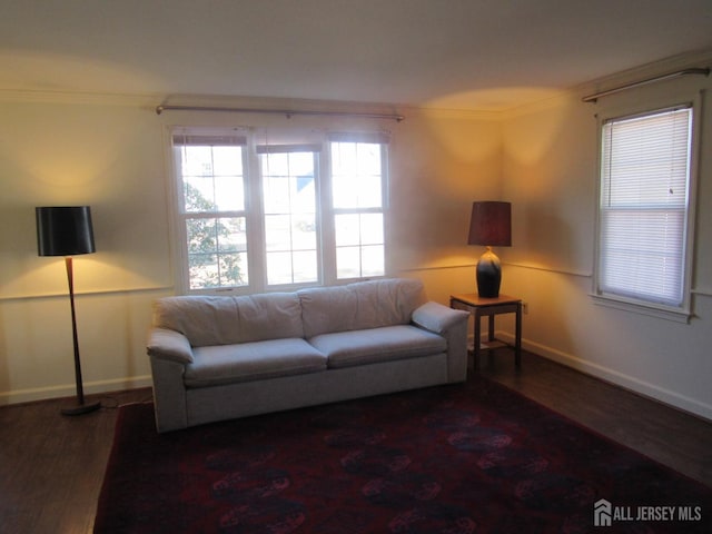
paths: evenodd
<path fill-rule="evenodd" d="M 0 408 L 0 533 L 85 534 L 113 439 L 116 407 L 151 399 L 150 389 L 105 396 L 100 412 L 67 417 L 71 400 Z"/>

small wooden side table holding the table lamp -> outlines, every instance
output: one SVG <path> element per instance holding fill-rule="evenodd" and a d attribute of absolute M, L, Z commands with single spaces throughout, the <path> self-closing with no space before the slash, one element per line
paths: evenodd
<path fill-rule="evenodd" d="M 500 295 L 495 298 L 481 298 L 476 293 L 451 295 L 449 307 L 469 312 L 475 318 L 475 346 L 473 350 L 475 368 L 479 365 L 482 317 L 490 317 L 488 342 L 498 342 L 494 337 L 494 318 L 500 314 L 516 314 L 516 332 L 514 343 L 514 363 L 516 367 L 522 366 L 522 299 L 508 295 Z M 503 342 L 498 342 L 500 345 Z M 504 344 L 506 345 L 506 344 Z M 495 348 L 495 347 L 487 347 Z"/>

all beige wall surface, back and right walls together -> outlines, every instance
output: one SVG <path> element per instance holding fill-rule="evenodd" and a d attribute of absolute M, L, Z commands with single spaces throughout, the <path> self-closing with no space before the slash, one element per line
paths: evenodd
<path fill-rule="evenodd" d="M 403 122 L 367 121 L 368 128 L 393 134 L 390 273 L 423 279 L 429 296 L 444 304 L 451 293 L 474 290 L 479 250 L 465 245 L 471 202 L 510 200 L 514 243 L 498 253 L 505 263 L 503 291 L 528 303 L 525 346 L 712 418 L 709 102 L 702 123 L 695 317 L 679 324 L 604 308 L 589 296 L 594 113 L 602 106 L 653 102 L 670 91 L 696 93 L 701 88 L 709 89 L 710 79 L 663 82 L 599 105 L 582 103 L 582 89 L 503 115 L 398 109 L 406 116 Z M 167 127 L 286 120 L 157 116 L 156 103 L 108 96 L 0 95 L 0 404 L 73 394 L 63 264 L 37 256 L 34 206 L 92 206 L 98 253 L 75 261 L 86 390 L 148 385 L 144 344 L 150 303 L 175 293 Z M 315 128 L 365 127 L 358 120 L 290 120 Z M 498 326 L 503 336 L 511 335 L 508 318 Z"/>

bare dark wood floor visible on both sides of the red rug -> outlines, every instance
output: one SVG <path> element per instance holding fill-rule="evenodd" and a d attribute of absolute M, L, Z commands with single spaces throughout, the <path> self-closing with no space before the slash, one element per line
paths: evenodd
<path fill-rule="evenodd" d="M 507 349 L 479 373 L 712 486 L 712 423 L 528 353 Z M 99 397 L 105 408 L 63 417 L 59 400 L 0 408 L 0 533 L 90 533 L 119 404 L 150 389 Z"/>

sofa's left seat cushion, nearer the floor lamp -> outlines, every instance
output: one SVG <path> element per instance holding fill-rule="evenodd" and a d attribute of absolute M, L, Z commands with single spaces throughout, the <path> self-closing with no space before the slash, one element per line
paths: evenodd
<path fill-rule="evenodd" d="M 270 339 L 197 347 L 184 380 L 206 387 L 319 370 L 326 370 L 326 356 L 304 339 Z"/>

